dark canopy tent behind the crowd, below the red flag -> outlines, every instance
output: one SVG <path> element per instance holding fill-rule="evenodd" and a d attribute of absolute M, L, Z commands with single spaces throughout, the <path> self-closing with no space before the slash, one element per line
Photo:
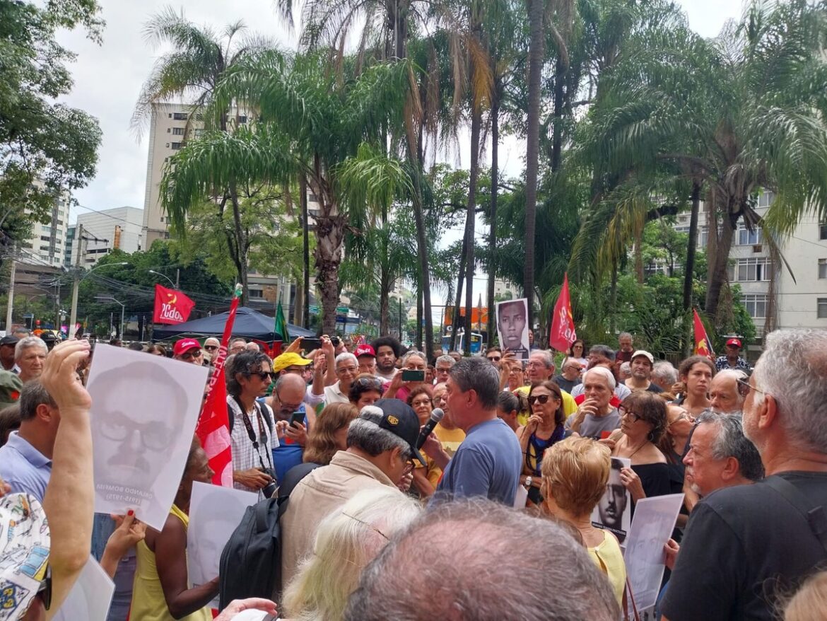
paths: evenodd
<path fill-rule="evenodd" d="M 229 315 L 230 311 L 227 310 L 226 313 L 186 321 L 183 324 L 161 325 L 156 327 L 155 330 L 152 330 L 152 340 L 179 339 L 184 336 L 192 336 L 194 338 L 201 336 L 221 337 L 221 335 L 224 334 L 224 325 L 227 323 L 227 317 Z M 232 325 L 232 335 L 272 343 L 281 340 L 275 335 L 273 331 L 274 327 L 275 320 L 273 317 L 268 317 L 258 310 L 253 310 L 247 306 L 239 306 L 236 310 L 236 321 Z M 287 332 L 290 339 L 298 339 L 299 336 L 310 338 L 316 336 L 315 332 L 293 324 L 287 325 Z"/>

